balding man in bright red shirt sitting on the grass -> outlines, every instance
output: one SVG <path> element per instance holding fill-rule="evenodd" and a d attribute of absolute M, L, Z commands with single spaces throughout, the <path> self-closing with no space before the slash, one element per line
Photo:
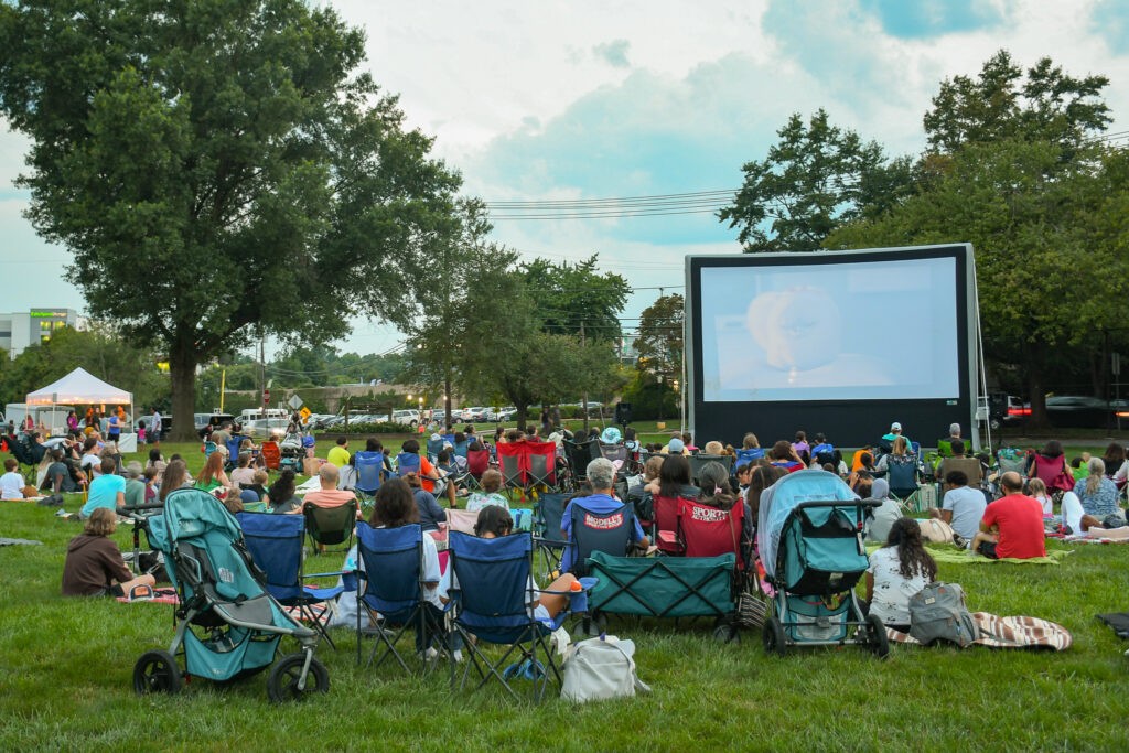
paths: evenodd
<path fill-rule="evenodd" d="M 1023 493 L 1018 473 L 1008 471 L 999 483 L 1004 496 L 984 510 L 980 533 L 972 540 L 973 551 L 994 560 L 1047 557 L 1042 505 Z"/>

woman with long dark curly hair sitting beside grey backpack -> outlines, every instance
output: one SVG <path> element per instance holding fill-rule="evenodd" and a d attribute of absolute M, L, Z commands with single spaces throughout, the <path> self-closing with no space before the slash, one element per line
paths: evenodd
<path fill-rule="evenodd" d="M 913 518 L 898 518 L 886 545 L 870 554 L 866 569 L 869 613 L 887 628 L 909 632 L 910 597 L 937 577 L 937 563 L 925 550 L 921 527 Z"/>

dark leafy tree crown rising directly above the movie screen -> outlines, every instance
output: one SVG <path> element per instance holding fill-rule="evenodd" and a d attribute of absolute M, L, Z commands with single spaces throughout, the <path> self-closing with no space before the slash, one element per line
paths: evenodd
<path fill-rule="evenodd" d="M 763 160 L 742 167 L 741 190 L 718 213 L 741 228 L 746 253 L 816 251 L 839 225 L 878 216 L 910 192 L 908 158 L 890 160 L 822 108 L 806 123 L 793 114 L 777 133 Z"/>

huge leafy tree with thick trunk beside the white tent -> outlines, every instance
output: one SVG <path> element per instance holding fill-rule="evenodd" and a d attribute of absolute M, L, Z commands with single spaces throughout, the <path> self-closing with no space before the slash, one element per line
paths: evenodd
<path fill-rule="evenodd" d="M 173 414 L 248 333 L 401 322 L 456 231 L 458 178 L 301 0 L 0 5 L 0 112 L 32 139 L 27 214 L 90 312 L 167 350 Z M 191 432 L 176 421 L 174 431 Z"/>

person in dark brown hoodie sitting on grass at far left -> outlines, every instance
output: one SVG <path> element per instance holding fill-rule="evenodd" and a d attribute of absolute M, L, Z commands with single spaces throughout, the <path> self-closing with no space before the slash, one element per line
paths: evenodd
<path fill-rule="evenodd" d="M 67 545 L 63 563 L 63 596 L 125 596 L 134 586 L 154 586 L 151 575 L 137 578 L 125 567 L 122 551 L 110 539 L 117 527 L 117 514 L 108 507 L 90 513 L 82 533 Z"/>

